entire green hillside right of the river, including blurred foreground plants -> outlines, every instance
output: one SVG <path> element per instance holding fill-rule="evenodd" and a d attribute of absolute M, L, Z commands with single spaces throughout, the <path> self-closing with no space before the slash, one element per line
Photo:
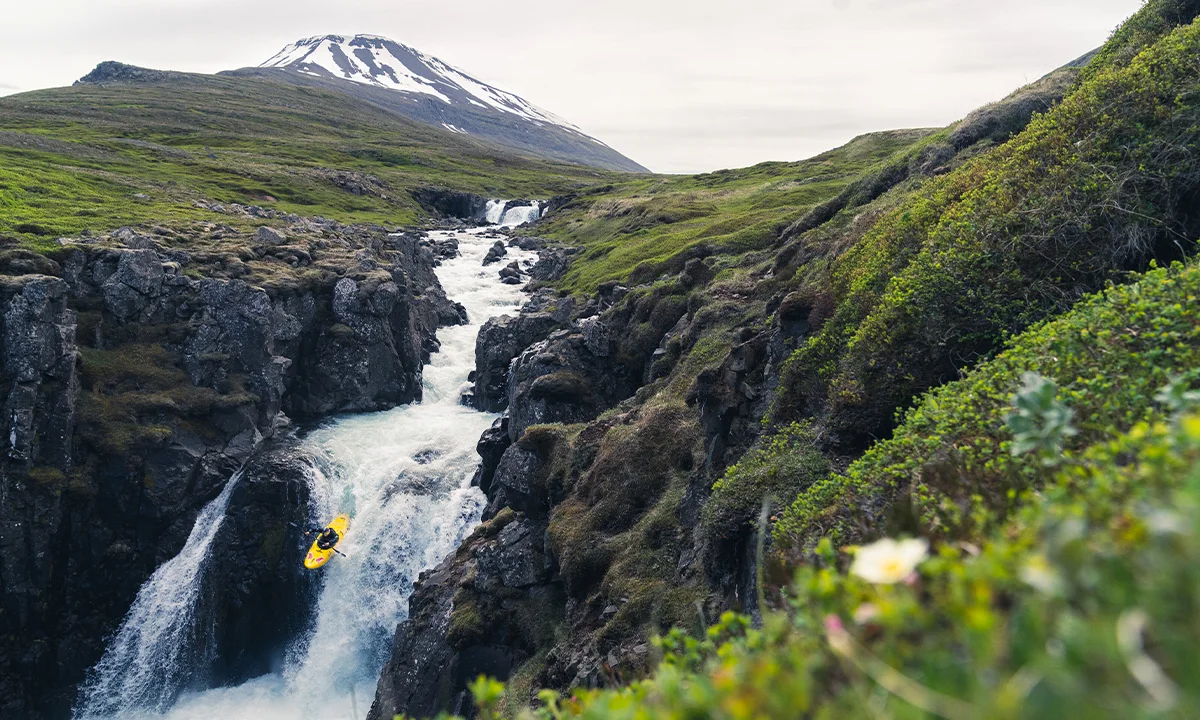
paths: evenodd
<path fill-rule="evenodd" d="M 613 311 L 631 318 L 620 352 L 661 308 L 688 308 L 647 372 L 658 379 L 619 408 L 638 419 L 617 416 L 620 457 L 707 450 L 712 430 L 650 431 L 685 404 L 702 419 L 704 403 L 736 407 L 702 383 L 736 390 L 746 348 L 791 344 L 761 384 L 745 377 L 742 397 L 769 403 L 738 416 L 757 439 L 709 480 L 698 522 L 683 520 L 695 505 L 678 468 L 629 461 L 606 476 L 598 460 L 586 488 L 558 480 L 550 533 L 568 590 L 584 558 L 604 577 L 586 601 L 634 607 L 572 625 L 558 648 L 659 636 L 661 662 L 644 680 L 544 692 L 533 715 L 1200 712 L 1198 14 L 1152 0 L 1086 67 L 944 130 L 617 182 L 542 223 L 583 248 L 562 292 L 635 286 Z M 572 442 L 578 463 L 588 448 Z M 587 498 L 624 497 L 630 475 L 665 490 L 610 530 Z M 678 580 L 692 533 L 718 565 L 762 544 L 746 601 L 761 624 L 730 613 L 707 635 L 680 629 L 715 592 Z M 913 536 L 928 554 L 889 540 Z M 524 704 L 538 672 L 508 690 L 479 682 L 485 716 Z"/>

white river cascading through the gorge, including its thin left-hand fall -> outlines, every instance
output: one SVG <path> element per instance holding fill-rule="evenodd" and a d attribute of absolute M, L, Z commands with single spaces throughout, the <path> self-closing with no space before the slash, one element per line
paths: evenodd
<path fill-rule="evenodd" d="M 502 220 L 508 220 L 510 212 L 505 211 Z M 347 557 L 335 558 L 322 570 L 324 587 L 314 626 L 290 649 L 281 673 L 236 688 L 184 695 L 166 718 L 292 720 L 356 715 L 356 720 L 366 714 L 396 625 L 407 617 L 416 576 L 452 552 L 479 522 L 485 498 L 470 486 L 479 464 L 475 443 L 496 415 L 467 408 L 458 400 L 469 386 L 467 377 L 474 368 L 480 325 L 491 317 L 515 312 L 523 301 L 517 287 L 500 283 L 494 268 L 482 266 L 494 236 L 470 230 L 455 238 L 460 257 L 444 263 L 437 272 L 446 294 L 466 306 L 469 324 L 438 331 L 442 349 L 425 367 L 424 401 L 384 413 L 340 418 L 305 439 L 322 464 L 322 472 L 313 478 L 314 516 L 328 520 L 337 512 L 352 515 L 349 532 L 338 546 Z M 534 257 L 512 247 L 505 259 L 528 263 Z M 163 716 L 162 704 L 170 697 L 156 698 L 143 689 L 163 679 L 160 658 L 174 652 L 163 646 L 172 644 L 180 632 L 155 637 L 156 625 L 143 618 L 194 606 L 194 593 L 200 588 L 179 574 L 184 566 L 192 575 L 199 572 L 234 482 L 230 480 L 221 497 L 205 508 L 184 552 L 142 588 L 116 641 L 94 671 L 97 679 L 84 692 L 77 719 Z M 152 610 L 142 610 L 142 604 Z M 193 625 L 190 614 L 179 617 L 176 624 Z M 121 649 L 126 646 L 140 649 Z M 133 661 L 144 665 L 137 670 L 138 679 L 119 679 L 121 665 Z M 178 662 L 173 667 L 176 670 L 172 672 L 186 671 Z"/>

